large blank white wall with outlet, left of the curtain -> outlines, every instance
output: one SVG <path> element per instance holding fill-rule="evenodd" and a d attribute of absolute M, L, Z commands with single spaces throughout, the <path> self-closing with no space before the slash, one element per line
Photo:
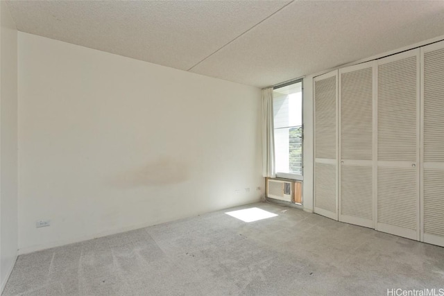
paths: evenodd
<path fill-rule="evenodd" d="M 259 201 L 259 89 L 18 44 L 19 253 Z"/>

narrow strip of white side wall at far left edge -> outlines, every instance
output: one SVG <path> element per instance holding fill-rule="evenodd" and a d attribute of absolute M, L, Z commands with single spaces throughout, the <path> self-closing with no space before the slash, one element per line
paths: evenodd
<path fill-rule="evenodd" d="M 17 259 L 17 30 L 0 1 L 0 293 Z"/>

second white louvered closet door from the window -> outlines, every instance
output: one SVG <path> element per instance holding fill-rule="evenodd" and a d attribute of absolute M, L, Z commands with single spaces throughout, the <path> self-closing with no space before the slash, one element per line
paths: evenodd
<path fill-rule="evenodd" d="M 339 220 L 373 225 L 375 62 L 339 70 Z"/>

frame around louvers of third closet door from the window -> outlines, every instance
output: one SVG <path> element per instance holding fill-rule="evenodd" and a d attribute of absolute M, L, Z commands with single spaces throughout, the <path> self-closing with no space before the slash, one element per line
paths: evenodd
<path fill-rule="evenodd" d="M 378 147 L 378 141 L 377 141 L 377 137 L 378 137 L 378 127 L 377 127 L 377 96 L 378 96 L 378 68 L 379 65 L 381 64 L 387 64 L 389 62 L 395 62 L 397 60 L 402 60 L 404 58 L 410 58 L 412 56 L 416 55 L 416 162 L 414 162 L 413 164 L 416 166 L 416 184 L 417 184 L 417 188 L 416 188 L 416 233 L 413 233 L 413 230 L 411 229 L 406 229 L 404 227 L 398 227 L 395 225 L 388 225 L 386 223 L 379 223 L 378 219 L 377 219 L 377 168 L 378 168 L 378 164 L 383 163 L 383 164 L 388 164 L 390 165 L 390 161 L 379 161 L 378 160 L 378 153 L 377 153 L 377 147 Z M 381 63 L 380 61 L 384 61 L 383 63 Z M 420 223 L 420 151 L 421 149 L 421 142 L 420 142 L 420 121 L 421 121 L 421 114 L 420 114 L 420 105 L 421 105 L 421 85 L 422 85 L 422 81 L 421 81 L 421 76 L 420 76 L 420 67 L 421 67 L 421 55 L 420 55 L 420 49 L 411 49 L 409 51 L 405 51 L 402 53 L 397 53 L 395 55 L 391 55 L 387 58 L 382 58 L 381 60 L 377 61 L 377 69 L 376 69 L 376 73 L 375 73 L 375 85 L 376 85 L 376 102 L 375 102 L 375 130 L 374 130 L 374 137 L 375 137 L 375 145 L 374 148 L 376 150 L 376 154 L 375 154 L 375 180 L 374 180 L 374 184 L 373 184 L 373 188 L 375 189 L 375 229 L 377 231 L 380 232 L 386 232 L 388 234 L 395 234 L 398 236 L 403 236 L 406 238 L 411 238 L 413 240 L 416 241 L 420 241 L 420 233 L 422 233 L 421 231 L 421 223 Z M 399 164 L 400 162 L 397 161 L 397 163 Z M 413 164 L 409 161 L 403 161 L 402 162 L 402 167 L 403 168 L 410 168 L 411 166 L 413 166 Z"/>

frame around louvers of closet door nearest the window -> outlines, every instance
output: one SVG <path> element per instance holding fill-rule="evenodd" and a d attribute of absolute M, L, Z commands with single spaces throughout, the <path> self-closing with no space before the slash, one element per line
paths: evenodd
<path fill-rule="evenodd" d="M 316 157 L 316 81 L 318 80 L 324 80 L 330 77 L 334 77 L 336 76 L 336 134 L 335 134 L 335 146 L 336 146 L 336 159 L 323 159 L 323 158 L 317 158 Z M 316 76 L 315 78 L 313 78 L 313 122 L 314 122 L 314 132 L 315 132 L 315 136 L 314 136 L 314 147 L 313 147 L 313 155 L 314 155 L 314 167 L 313 167 L 313 180 L 314 180 L 314 188 L 313 188 L 313 192 L 314 192 L 314 202 L 313 202 L 313 209 L 314 209 L 314 213 L 316 214 L 320 214 L 322 216 L 325 216 L 327 218 L 331 218 L 334 220 L 338 220 L 339 218 L 339 210 L 338 210 L 338 191 L 339 191 L 339 186 L 338 186 L 338 159 L 339 159 L 339 149 L 338 149 L 338 89 L 339 89 L 339 70 L 334 70 L 328 73 L 325 73 L 321 76 Z M 319 164 L 334 164 L 336 166 L 336 213 L 332 213 L 331 211 L 327 211 L 325 209 L 321 209 L 316 207 L 316 163 Z"/>

